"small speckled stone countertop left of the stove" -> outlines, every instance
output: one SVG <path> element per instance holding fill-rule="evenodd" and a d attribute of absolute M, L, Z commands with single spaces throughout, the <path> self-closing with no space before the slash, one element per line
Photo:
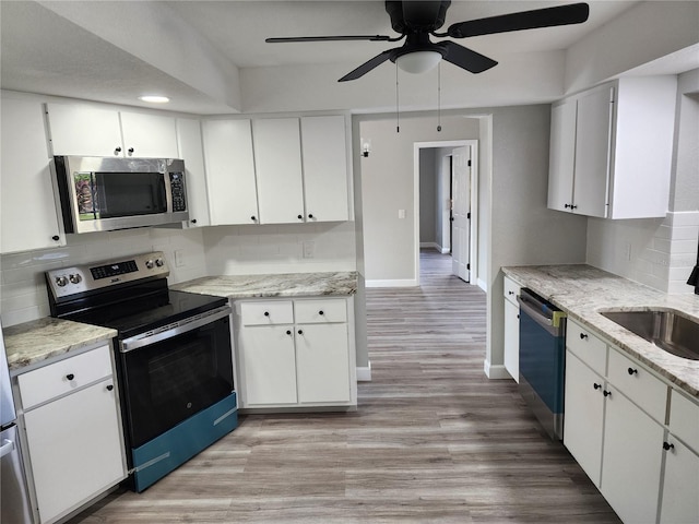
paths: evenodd
<path fill-rule="evenodd" d="M 3 329 L 10 371 L 117 336 L 117 331 L 46 317 Z"/>

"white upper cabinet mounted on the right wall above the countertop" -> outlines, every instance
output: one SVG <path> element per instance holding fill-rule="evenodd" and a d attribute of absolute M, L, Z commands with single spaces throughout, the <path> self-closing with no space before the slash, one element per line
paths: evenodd
<path fill-rule="evenodd" d="M 603 218 L 664 217 L 675 76 L 624 78 L 552 109 L 548 207 Z"/>

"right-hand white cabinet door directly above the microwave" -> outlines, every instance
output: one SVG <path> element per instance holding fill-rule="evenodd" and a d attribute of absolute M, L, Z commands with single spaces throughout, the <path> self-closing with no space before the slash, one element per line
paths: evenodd
<path fill-rule="evenodd" d="M 175 119 L 121 111 L 125 156 L 179 158 Z"/>

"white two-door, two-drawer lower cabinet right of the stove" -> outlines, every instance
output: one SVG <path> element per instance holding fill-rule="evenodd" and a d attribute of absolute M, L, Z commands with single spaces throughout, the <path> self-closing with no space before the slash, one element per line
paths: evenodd
<path fill-rule="evenodd" d="M 356 404 L 351 300 L 237 301 L 240 407 Z"/>

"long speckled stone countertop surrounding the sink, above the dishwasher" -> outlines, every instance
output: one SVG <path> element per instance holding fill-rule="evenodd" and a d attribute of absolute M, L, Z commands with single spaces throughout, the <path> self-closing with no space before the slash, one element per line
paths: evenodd
<path fill-rule="evenodd" d="M 699 360 L 671 355 L 600 314 L 609 309 L 674 309 L 699 322 L 699 295 L 668 295 L 589 265 L 517 266 L 502 272 L 699 397 Z"/>

